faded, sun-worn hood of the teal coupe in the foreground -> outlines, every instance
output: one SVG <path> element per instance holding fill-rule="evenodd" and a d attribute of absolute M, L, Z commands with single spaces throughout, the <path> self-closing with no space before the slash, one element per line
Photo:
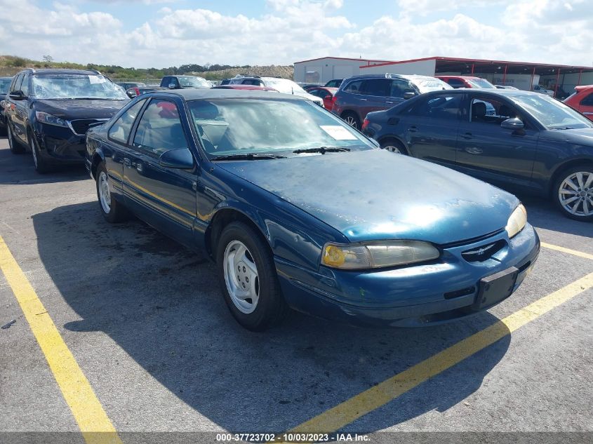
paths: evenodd
<path fill-rule="evenodd" d="M 519 203 L 485 182 L 382 149 L 217 166 L 352 242 L 401 238 L 442 245 L 476 238 L 504 228 Z"/>

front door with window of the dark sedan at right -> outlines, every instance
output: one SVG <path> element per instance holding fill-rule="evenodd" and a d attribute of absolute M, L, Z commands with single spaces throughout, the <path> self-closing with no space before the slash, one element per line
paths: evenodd
<path fill-rule="evenodd" d="M 512 117 L 521 119 L 524 129 L 500 126 Z M 531 187 L 538 137 L 535 125 L 512 102 L 503 97 L 469 94 L 459 126 L 458 167 L 488 182 Z"/>

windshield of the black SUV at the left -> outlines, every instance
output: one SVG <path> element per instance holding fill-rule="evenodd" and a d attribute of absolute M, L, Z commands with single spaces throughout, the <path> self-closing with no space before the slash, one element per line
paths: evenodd
<path fill-rule="evenodd" d="M 38 99 L 112 99 L 128 97 L 115 83 L 100 74 L 43 74 L 33 76 Z"/>

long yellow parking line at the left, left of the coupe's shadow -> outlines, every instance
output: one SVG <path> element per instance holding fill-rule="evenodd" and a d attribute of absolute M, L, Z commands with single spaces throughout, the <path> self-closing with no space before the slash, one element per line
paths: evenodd
<path fill-rule="evenodd" d="M 1 236 L 0 269 L 13 289 L 86 443 L 121 444 L 91 384 Z"/>

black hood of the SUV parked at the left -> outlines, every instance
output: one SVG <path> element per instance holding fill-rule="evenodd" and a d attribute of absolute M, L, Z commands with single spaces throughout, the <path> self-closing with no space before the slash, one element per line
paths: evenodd
<path fill-rule="evenodd" d="M 130 100 L 35 100 L 37 111 L 53 114 L 60 119 L 109 119 Z"/>

